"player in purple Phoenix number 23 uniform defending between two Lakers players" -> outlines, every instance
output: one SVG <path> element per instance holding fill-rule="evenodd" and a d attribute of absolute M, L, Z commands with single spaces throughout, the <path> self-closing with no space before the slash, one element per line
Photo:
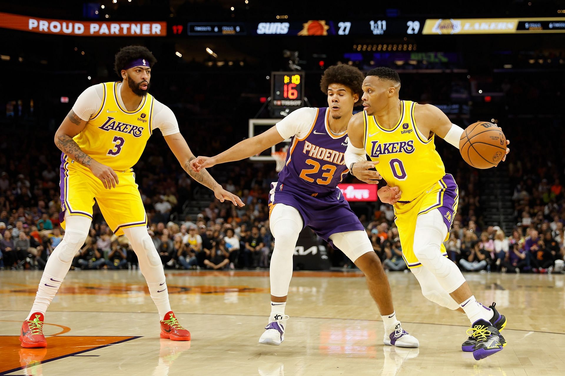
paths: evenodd
<path fill-rule="evenodd" d="M 384 322 L 385 344 L 418 347 L 418 339 L 396 319 L 390 286 L 363 225 L 351 211 L 337 184 L 349 172 L 344 155 L 347 123 L 362 93 L 363 74 L 349 65 L 328 68 L 320 89 L 328 95 L 327 108 L 301 108 L 270 130 L 234 145 L 215 157 L 198 157 L 194 171 L 219 163 L 249 158 L 292 138 L 286 165 L 270 193 L 271 232 L 275 250 L 271 258 L 271 315 L 259 343 L 279 346 L 284 340 L 286 297 L 292 278 L 292 257 L 305 226 L 341 249 L 364 273 L 369 291 Z M 377 172 L 375 171 L 375 175 Z"/>

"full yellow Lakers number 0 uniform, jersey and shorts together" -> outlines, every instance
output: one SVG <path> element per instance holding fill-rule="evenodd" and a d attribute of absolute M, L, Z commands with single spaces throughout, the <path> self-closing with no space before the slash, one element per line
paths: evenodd
<path fill-rule="evenodd" d="M 434 135 L 425 138 L 416 127 L 412 101 L 401 101 L 401 116 L 392 129 L 386 129 L 374 116 L 364 114 L 365 150 L 388 185 L 399 187 L 401 201 L 394 205 L 395 223 L 402 255 L 409 268 L 421 266 L 414 255 L 414 233 L 418 215 L 438 209 L 449 229 L 458 204 L 457 183 L 445 174 L 444 162 L 434 145 Z M 441 253 L 447 255 L 444 245 Z"/>

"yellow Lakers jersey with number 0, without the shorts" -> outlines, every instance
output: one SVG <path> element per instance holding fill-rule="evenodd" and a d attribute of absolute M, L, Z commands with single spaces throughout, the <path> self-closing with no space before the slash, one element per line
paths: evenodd
<path fill-rule="evenodd" d="M 401 101 L 401 116 L 392 129 L 385 129 L 376 117 L 365 118 L 365 150 L 377 171 L 391 187 L 402 191 L 401 201 L 412 201 L 445 175 L 444 162 L 434 145 L 416 128 L 416 103 Z"/>

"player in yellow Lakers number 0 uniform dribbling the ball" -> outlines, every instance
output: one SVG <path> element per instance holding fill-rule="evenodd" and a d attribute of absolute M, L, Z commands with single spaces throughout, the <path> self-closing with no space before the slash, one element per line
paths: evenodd
<path fill-rule="evenodd" d="M 459 268 L 444 257 L 443 242 L 457 211 L 458 188 L 453 176 L 445 173 L 434 135 L 458 148 L 463 129 L 433 105 L 400 100 L 399 89 L 395 70 L 376 68 L 367 73 L 364 111 L 355 114 L 347 127 L 345 160 L 351 173 L 364 182 L 386 180 L 388 185 L 379 189 L 379 197 L 394 205 L 408 268 L 424 297 L 467 314 L 470 337 L 462 350 L 472 351 L 476 360 L 484 359 L 505 346 L 499 330 L 506 325 L 506 317 L 494 308 L 495 303 L 485 307 L 477 302 Z"/>

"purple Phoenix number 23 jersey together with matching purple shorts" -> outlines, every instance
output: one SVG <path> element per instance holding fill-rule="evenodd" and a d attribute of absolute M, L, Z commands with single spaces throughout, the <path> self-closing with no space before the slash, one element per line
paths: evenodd
<path fill-rule="evenodd" d="M 294 207 L 305 227 L 325 241 L 334 233 L 364 231 L 337 188 L 345 174 L 347 134 L 336 135 L 328 126 L 328 108 L 318 108 L 308 135 L 293 136 L 279 181 L 271 184 L 269 205 Z"/>

